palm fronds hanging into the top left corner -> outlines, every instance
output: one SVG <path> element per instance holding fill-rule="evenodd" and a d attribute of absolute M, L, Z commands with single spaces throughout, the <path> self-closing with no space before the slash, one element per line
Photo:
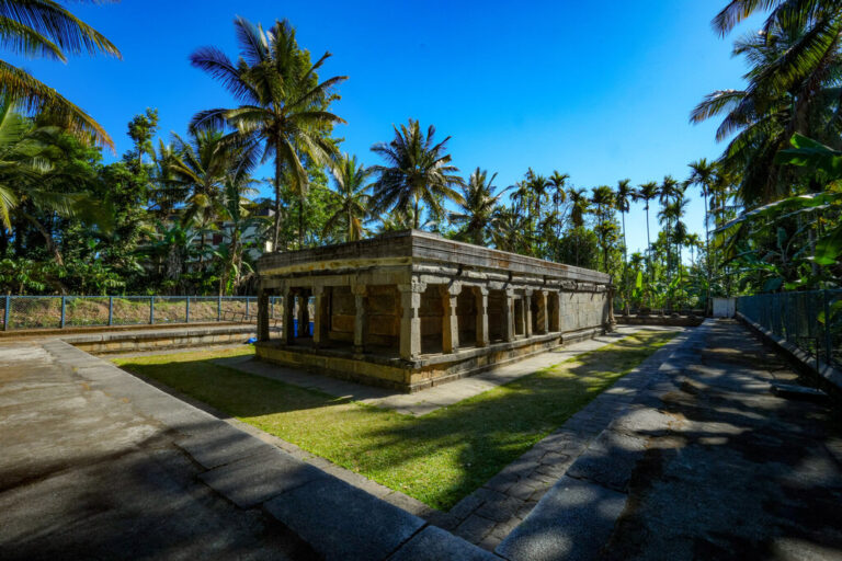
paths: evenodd
<path fill-rule="evenodd" d="M 68 56 L 102 53 L 121 54 L 104 35 L 53 0 L 8 0 L 0 2 L 0 34 L 3 46 L 26 58 L 67 62 Z M 82 137 L 114 148 L 111 137 L 79 106 L 25 70 L 0 60 L 0 96 L 31 113 L 48 113 L 55 123 Z"/>

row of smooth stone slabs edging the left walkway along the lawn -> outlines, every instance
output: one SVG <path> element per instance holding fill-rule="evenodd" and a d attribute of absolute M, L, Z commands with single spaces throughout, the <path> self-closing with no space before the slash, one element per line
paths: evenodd
<path fill-rule="evenodd" d="M 205 484 L 239 507 L 262 507 L 326 559 L 499 559 L 65 341 L 43 347 L 92 390 L 181 434 Z"/>

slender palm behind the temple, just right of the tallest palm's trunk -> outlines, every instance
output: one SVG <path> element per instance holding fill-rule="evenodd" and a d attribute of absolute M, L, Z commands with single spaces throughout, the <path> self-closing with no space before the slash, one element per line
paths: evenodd
<path fill-rule="evenodd" d="M 344 222 L 345 241 L 362 240 L 366 230 L 365 219 L 368 216 L 369 185 L 366 183 L 371 170 L 359 163 L 356 156 L 343 153 L 331 169 L 335 188 L 333 194 L 339 208 L 325 222 L 325 233 L 333 230 L 337 225 Z"/>

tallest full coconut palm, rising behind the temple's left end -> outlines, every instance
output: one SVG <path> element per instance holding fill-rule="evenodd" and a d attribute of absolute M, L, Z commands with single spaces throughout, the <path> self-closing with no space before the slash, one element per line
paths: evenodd
<path fill-rule="evenodd" d="M 338 76 L 319 82 L 317 70 L 330 53 L 310 64 L 309 53 L 298 46 L 295 28 L 288 21 L 276 21 L 268 31 L 243 18 L 234 21 L 240 57 L 234 62 L 216 47 L 201 47 L 190 56 L 191 64 L 219 80 L 239 100 L 237 108 L 213 108 L 197 113 L 191 128 L 235 130 L 226 139 L 254 154 L 250 164 L 274 160 L 275 220 L 272 247 L 277 250 L 281 232 L 281 181 L 284 170 L 299 194 L 301 210 L 309 179 L 305 164 L 327 164 L 335 154 L 330 140 L 332 126 L 344 123 L 330 113 L 335 99 L 333 89 L 348 77 Z M 304 213 L 298 228 L 304 242 Z"/>

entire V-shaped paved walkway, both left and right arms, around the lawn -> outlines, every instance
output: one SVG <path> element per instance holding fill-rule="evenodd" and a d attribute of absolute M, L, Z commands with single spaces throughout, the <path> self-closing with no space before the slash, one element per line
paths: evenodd
<path fill-rule="evenodd" d="M 773 380 L 803 381 L 707 321 L 417 516 L 61 341 L 0 344 L 0 559 L 842 559 L 839 413 Z"/>

